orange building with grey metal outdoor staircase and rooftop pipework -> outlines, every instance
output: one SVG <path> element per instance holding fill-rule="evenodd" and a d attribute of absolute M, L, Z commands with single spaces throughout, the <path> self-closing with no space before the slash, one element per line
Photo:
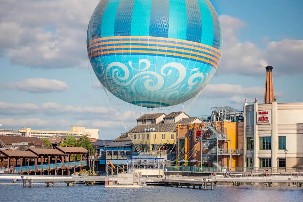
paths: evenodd
<path fill-rule="evenodd" d="M 201 163 L 217 167 L 218 171 L 224 167 L 235 170 L 238 162 L 242 162 L 239 156 L 243 155 L 243 147 L 238 147 L 238 124 L 243 121 L 243 112 L 227 106 L 215 107 L 211 108 L 211 115 L 201 119 L 203 123 L 189 121 L 177 125 L 178 164 Z"/>

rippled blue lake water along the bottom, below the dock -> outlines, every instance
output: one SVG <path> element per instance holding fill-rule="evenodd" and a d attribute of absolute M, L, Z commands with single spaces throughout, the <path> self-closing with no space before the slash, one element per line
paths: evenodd
<path fill-rule="evenodd" d="M 22 181 L 0 180 L 0 201 L 303 201 L 303 187 L 215 186 L 214 190 L 147 186 L 140 189 L 105 188 L 102 185 L 76 184 L 67 187 L 57 183 L 46 187 L 32 183 L 23 187 Z"/>

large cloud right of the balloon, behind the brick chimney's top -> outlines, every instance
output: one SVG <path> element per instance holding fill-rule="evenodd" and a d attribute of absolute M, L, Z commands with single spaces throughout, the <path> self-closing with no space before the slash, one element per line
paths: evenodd
<path fill-rule="evenodd" d="M 227 15 L 219 16 L 223 32 L 223 50 L 220 73 L 238 75 L 265 74 L 267 65 L 273 66 L 275 75 L 303 73 L 303 40 L 283 39 L 267 41 L 264 49 L 250 41 L 238 40 L 245 23 Z M 277 73 L 276 73 L 277 72 Z"/>

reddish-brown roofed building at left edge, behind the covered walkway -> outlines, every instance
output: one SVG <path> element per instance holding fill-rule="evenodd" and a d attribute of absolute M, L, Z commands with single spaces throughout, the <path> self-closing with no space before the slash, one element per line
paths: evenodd
<path fill-rule="evenodd" d="M 28 148 L 48 148 L 38 137 L 0 136 L 0 148 L 26 150 Z M 50 147 L 52 148 L 52 147 Z"/>

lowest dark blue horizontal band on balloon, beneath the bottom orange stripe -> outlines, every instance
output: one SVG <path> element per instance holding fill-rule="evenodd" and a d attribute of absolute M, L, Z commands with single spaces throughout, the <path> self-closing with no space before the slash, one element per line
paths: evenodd
<path fill-rule="evenodd" d="M 148 56 L 161 56 L 161 57 L 169 57 L 169 58 L 178 58 L 178 59 L 186 59 L 186 60 L 190 60 L 190 61 L 194 61 L 194 62 L 199 62 L 205 65 L 208 65 L 212 68 L 216 68 L 214 67 L 214 65 L 205 62 L 205 61 L 201 61 L 201 60 L 197 60 L 197 59 L 193 59 L 193 58 L 185 58 L 185 57 L 180 57 L 180 56 L 176 56 L 176 55 L 166 55 L 166 54 L 153 54 L 153 53 L 110 53 L 110 54 L 103 54 L 103 55 L 97 55 L 91 58 L 91 60 L 96 59 L 96 58 L 100 58 L 100 57 L 105 57 L 105 56 L 115 56 L 115 55 L 148 55 Z"/>

